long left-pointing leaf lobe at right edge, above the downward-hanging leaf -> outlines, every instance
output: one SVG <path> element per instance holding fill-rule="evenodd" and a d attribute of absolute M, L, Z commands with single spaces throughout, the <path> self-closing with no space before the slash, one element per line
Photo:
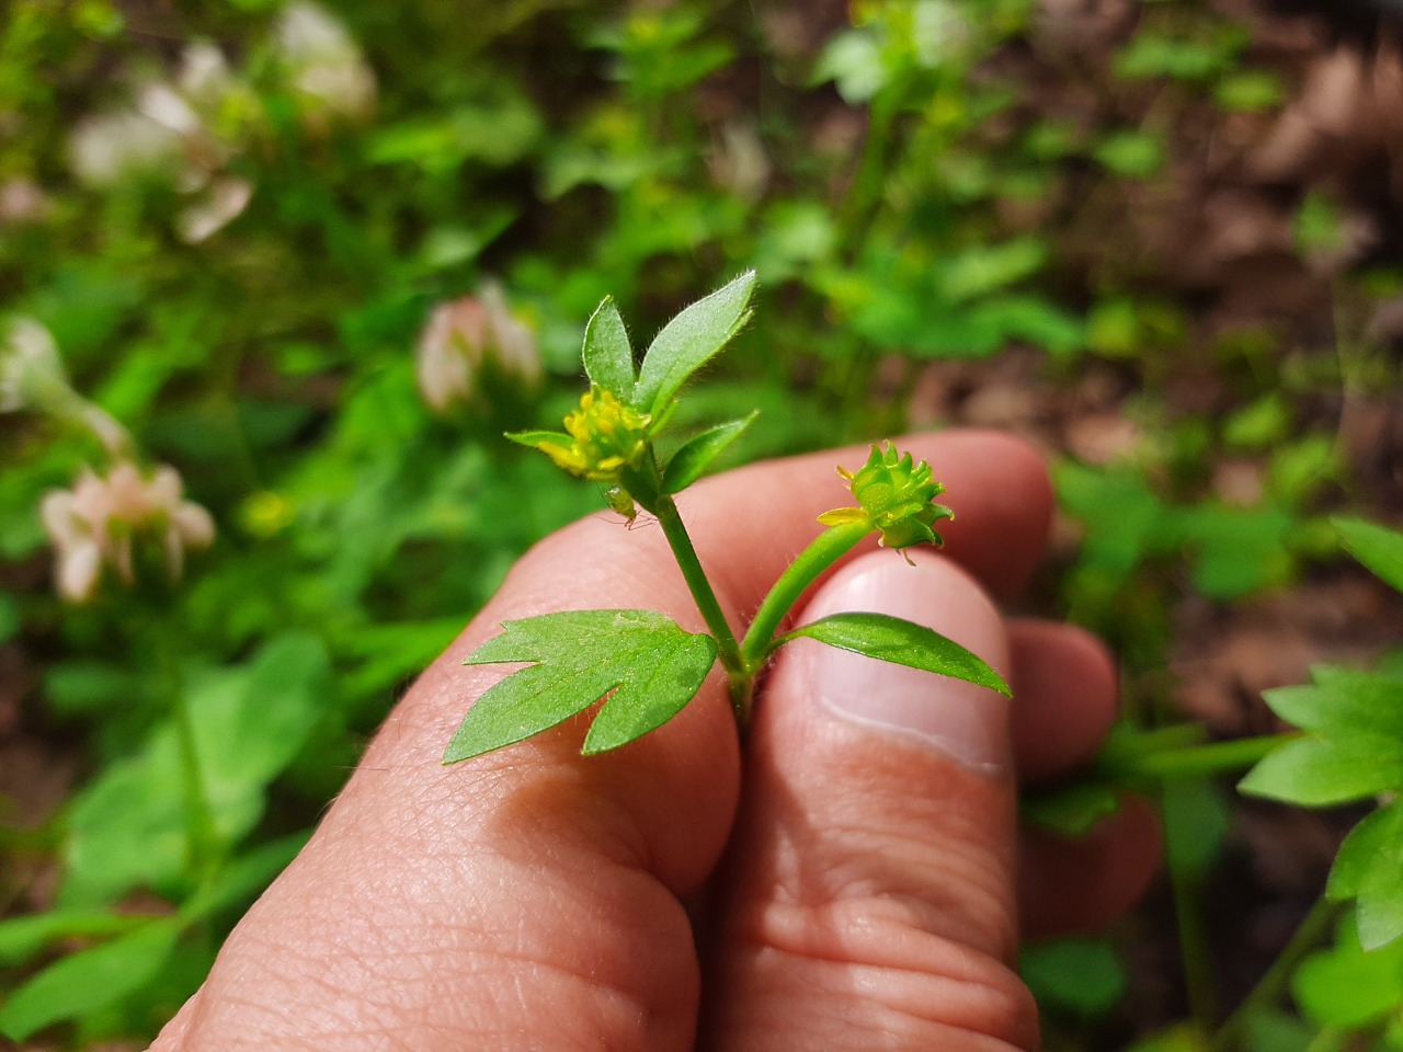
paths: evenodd
<path fill-rule="evenodd" d="M 1403 742 L 1374 734 L 1301 738 L 1253 767 L 1237 788 L 1254 797 L 1329 807 L 1403 785 Z"/>

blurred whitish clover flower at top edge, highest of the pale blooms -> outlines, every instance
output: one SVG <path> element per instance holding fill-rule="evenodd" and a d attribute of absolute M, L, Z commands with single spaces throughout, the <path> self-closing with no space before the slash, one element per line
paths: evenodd
<path fill-rule="evenodd" d="M 313 125 L 324 118 L 365 119 L 375 111 L 375 72 L 351 32 L 324 7 L 295 0 L 275 29 L 278 55 L 293 87 L 313 108 Z"/>

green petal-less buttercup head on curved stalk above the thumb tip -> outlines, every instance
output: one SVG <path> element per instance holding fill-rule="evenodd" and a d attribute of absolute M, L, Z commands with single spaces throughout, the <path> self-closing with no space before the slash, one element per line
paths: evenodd
<path fill-rule="evenodd" d="M 867 522 L 881 530 L 882 547 L 909 548 L 913 544 L 944 544 L 944 539 L 933 526 L 941 519 L 953 519 L 954 512 L 936 497 L 946 491 L 930 473 L 925 460 L 913 461 L 911 453 L 898 454 L 888 442 L 885 449 L 873 446 L 871 456 L 857 473 L 838 468 L 847 480 L 857 508 L 835 508 L 824 512 L 818 520 L 825 526 L 842 526 L 850 522 Z"/>

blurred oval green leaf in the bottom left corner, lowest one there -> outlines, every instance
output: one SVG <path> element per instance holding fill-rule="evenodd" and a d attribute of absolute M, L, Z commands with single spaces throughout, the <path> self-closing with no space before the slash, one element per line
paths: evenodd
<path fill-rule="evenodd" d="M 154 920 L 43 969 L 0 1009 L 0 1032 L 24 1041 L 45 1027 L 119 1002 L 150 982 L 175 948 L 181 923 Z"/>

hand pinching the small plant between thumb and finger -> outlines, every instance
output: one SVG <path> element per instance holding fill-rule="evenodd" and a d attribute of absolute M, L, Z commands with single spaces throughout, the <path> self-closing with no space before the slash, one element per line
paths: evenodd
<path fill-rule="evenodd" d="M 995 605 L 1042 550 L 1038 456 L 984 432 L 899 445 L 948 488 L 947 554 L 908 568 L 870 544 L 812 603 L 894 581 L 890 612 L 1000 668 L 1012 706 L 929 679 L 943 704 L 988 708 L 958 731 L 978 763 L 957 755 L 968 742 L 818 704 L 819 645 L 804 642 L 770 669 L 744 750 L 713 673 L 678 718 L 617 752 L 581 757 L 575 721 L 443 767 L 471 699 L 508 670 L 460 663 L 501 621 L 606 606 L 703 628 L 659 530 L 602 513 L 528 553 L 419 677 L 153 1049 L 1034 1049 L 1017 936 L 1120 913 L 1155 867 L 1156 832 L 1128 807 L 1076 843 L 1020 835 L 1017 784 L 1094 752 L 1114 668 L 1093 637 Z M 845 502 L 835 464 L 864 456 L 769 461 L 683 495 L 732 626 Z M 847 672 L 880 692 L 892 666 L 870 663 Z"/>

